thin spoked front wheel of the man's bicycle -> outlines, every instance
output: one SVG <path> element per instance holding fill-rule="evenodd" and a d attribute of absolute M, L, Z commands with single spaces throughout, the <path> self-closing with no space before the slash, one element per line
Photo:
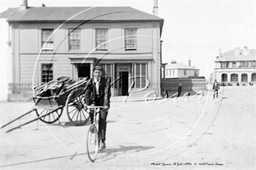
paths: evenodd
<path fill-rule="evenodd" d="M 95 125 L 90 125 L 88 129 L 86 146 L 87 155 L 89 159 L 93 162 L 96 159 L 99 150 L 99 137 Z"/>

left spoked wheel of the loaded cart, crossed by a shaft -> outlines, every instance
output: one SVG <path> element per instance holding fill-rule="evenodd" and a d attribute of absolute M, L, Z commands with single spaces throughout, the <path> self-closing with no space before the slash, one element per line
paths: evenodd
<path fill-rule="evenodd" d="M 47 112 L 51 112 L 52 110 L 54 110 L 54 109 L 48 109 L 48 108 L 47 109 L 39 109 L 39 108 L 37 108 L 36 114 L 38 117 L 40 117 L 44 114 L 47 114 Z M 40 120 L 43 121 L 44 123 L 48 123 L 48 124 L 54 123 L 55 121 L 60 119 L 62 111 L 63 111 L 62 108 L 58 109 L 57 111 L 52 112 L 51 114 L 45 116 L 44 118 L 40 118 Z"/>

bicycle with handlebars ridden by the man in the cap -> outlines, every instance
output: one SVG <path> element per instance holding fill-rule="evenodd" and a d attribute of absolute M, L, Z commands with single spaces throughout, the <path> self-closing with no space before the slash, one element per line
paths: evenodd
<path fill-rule="evenodd" d="M 97 112 L 99 112 L 100 109 L 104 107 L 103 106 L 86 106 L 86 108 L 90 109 L 91 111 L 93 109 L 93 123 L 92 125 L 90 125 L 88 129 L 87 142 L 86 142 L 87 155 L 89 159 L 93 162 L 96 159 L 97 153 L 99 151 L 99 134 L 97 130 L 99 125 L 96 122 L 96 115 L 97 115 Z"/>

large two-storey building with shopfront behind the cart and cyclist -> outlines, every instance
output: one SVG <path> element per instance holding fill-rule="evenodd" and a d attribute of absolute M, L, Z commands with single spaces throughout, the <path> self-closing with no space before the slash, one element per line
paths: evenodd
<path fill-rule="evenodd" d="M 98 65 L 115 82 L 112 96 L 127 95 L 132 84 L 138 92 L 130 96 L 160 92 L 164 20 L 156 15 L 127 6 L 28 7 L 22 1 L 1 18 L 10 26 L 13 83 L 90 78 Z"/>

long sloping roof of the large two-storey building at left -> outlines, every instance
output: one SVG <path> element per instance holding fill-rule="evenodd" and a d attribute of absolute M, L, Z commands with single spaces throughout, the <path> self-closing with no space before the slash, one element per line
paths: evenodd
<path fill-rule="evenodd" d="M 1 18 L 8 22 L 40 22 L 40 21 L 120 21 L 120 20 L 154 20 L 163 19 L 130 6 L 97 6 L 97 7 L 28 7 L 25 10 L 20 8 L 8 8 L 1 13 Z"/>

